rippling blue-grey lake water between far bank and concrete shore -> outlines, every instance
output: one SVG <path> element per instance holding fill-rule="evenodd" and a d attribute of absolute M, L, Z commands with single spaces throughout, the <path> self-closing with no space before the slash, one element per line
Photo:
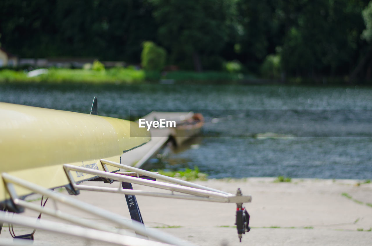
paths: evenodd
<path fill-rule="evenodd" d="M 372 88 L 0 85 L 0 101 L 82 113 L 94 96 L 100 115 L 124 119 L 131 110 L 201 111 L 208 120 L 201 136 L 163 159 L 168 169 L 198 166 L 209 178 L 372 179 Z"/>

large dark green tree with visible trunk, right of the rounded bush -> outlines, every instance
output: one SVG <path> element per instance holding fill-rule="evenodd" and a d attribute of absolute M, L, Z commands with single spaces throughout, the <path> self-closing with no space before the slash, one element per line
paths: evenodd
<path fill-rule="evenodd" d="M 170 61 L 202 71 L 205 58 L 218 59 L 228 41 L 234 0 L 154 0 L 158 39 Z"/>

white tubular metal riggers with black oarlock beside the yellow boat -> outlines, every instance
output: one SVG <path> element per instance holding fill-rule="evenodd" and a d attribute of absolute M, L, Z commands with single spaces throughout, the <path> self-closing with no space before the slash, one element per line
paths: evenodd
<path fill-rule="evenodd" d="M 107 166 L 115 166 L 122 170 L 130 171 L 132 173 L 122 172 L 110 173 L 107 171 L 99 171 L 95 169 L 65 164 L 63 165 L 63 167 L 70 181 L 69 184 L 70 190 L 72 191 L 73 194 L 78 194 L 79 190 L 125 194 L 132 220 L 129 220 L 126 217 L 120 216 L 119 214 L 115 214 L 111 211 L 104 210 L 94 205 L 76 200 L 71 196 L 60 194 L 58 192 L 54 192 L 53 190 L 49 190 L 47 188 L 14 177 L 7 173 L 2 173 L 1 176 L 3 178 L 3 182 L 5 184 L 7 193 L 10 196 L 10 199 L 7 204 L 8 210 L 10 210 L 9 208 L 12 208 L 16 212 L 22 212 L 24 208 L 27 208 L 29 210 L 37 211 L 38 213 L 48 214 L 49 216 L 67 221 L 69 224 L 68 226 L 66 226 L 66 224 L 62 224 L 60 222 L 57 223 L 53 221 L 47 221 L 45 219 L 35 221 L 34 218 L 6 212 L 6 208 L 3 208 L 3 211 L 0 211 L 1 221 L 0 226 L 2 227 L 3 223 L 17 224 L 19 226 L 26 226 L 35 229 L 47 230 L 54 233 L 76 236 L 86 240 L 110 243 L 111 245 L 128 246 L 192 245 L 189 242 L 185 242 L 169 234 L 160 232 L 158 230 L 146 228 L 144 226 L 137 201 L 135 200 L 135 195 L 145 195 L 152 197 L 211 201 L 219 203 L 236 203 L 237 230 L 240 240 L 242 234 L 249 231 L 248 227 L 249 215 L 244 209 L 243 203 L 251 202 L 251 196 L 242 195 L 240 189 L 238 189 L 237 194 L 230 194 L 228 192 L 215 190 L 202 185 L 193 184 L 192 182 L 167 177 L 164 175 L 145 171 L 143 169 L 135 168 L 132 166 L 107 161 L 105 159 L 101 159 L 99 162 L 103 166 L 103 170 L 108 170 Z M 77 182 L 74 181 L 73 175 L 71 175 L 71 172 L 74 171 L 85 174 L 91 174 L 96 177 L 103 178 L 107 182 L 120 181 L 121 186 L 118 188 L 110 188 L 78 184 Z M 130 175 L 134 175 L 135 177 L 131 177 Z M 156 181 L 156 179 L 161 179 L 166 182 Z M 133 190 L 131 184 L 159 188 L 161 190 L 167 190 L 170 192 Z M 15 189 L 16 186 L 26 188 L 30 191 L 30 193 L 41 194 L 44 197 L 48 197 L 49 200 L 52 200 L 54 208 L 46 208 L 43 207 L 42 205 L 36 205 L 34 203 L 22 200 L 17 195 Z M 97 217 L 104 219 L 105 221 L 109 221 L 115 224 L 115 227 L 108 227 L 107 225 L 104 225 L 99 222 L 92 222 L 90 220 L 88 221 L 80 219 L 75 216 L 72 216 L 71 214 L 64 213 L 58 208 L 59 203 L 93 214 Z M 73 223 L 75 225 L 71 225 L 70 223 Z M 134 230 L 137 237 L 128 236 L 128 229 L 132 231 Z M 28 240 L 15 240 L 14 242 L 0 240 L 0 246 L 29 245 L 29 243 L 25 241 Z M 38 243 L 35 242 L 33 243 L 33 245 L 38 245 Z"/>

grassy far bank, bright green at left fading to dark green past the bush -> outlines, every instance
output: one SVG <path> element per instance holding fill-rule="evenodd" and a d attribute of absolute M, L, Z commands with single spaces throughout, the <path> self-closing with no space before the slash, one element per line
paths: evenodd
<path fill-rule="evenodd" d="M 166 73 L 147 72 L 131 68 L 110 68 L 103 71 L 86 69 L 51 68 L 47 73 L 29 77 L 27 72 L 10 69 L 0 70 L 0 82 L 63 82 L 128 84 L 141 81 L 224 81 L 231 82 L 243 78 L 242 74 L 228 72 L 172 71 Z"/>

